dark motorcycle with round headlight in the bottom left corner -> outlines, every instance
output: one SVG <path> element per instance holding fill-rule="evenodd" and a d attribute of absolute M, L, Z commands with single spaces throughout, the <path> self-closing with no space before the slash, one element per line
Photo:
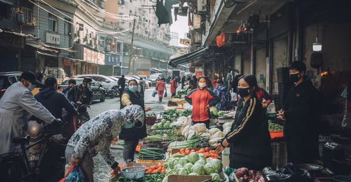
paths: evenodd
<path fill-rule="evenodd" d="M 65 138 L 53 134 L 57 124 L 28 122 L 28 134 L 13 138 L 20 150 L 0 155 L 1 181 L 58 181 L 65 170 Z"/>

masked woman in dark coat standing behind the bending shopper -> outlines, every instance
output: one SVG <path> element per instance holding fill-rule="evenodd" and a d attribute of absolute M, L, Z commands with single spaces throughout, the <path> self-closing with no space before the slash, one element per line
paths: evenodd
<path fill-rule="evenodd" d="M 121 99 L 121 109 L 125 108 L 127 105 L 140 105 L 145 112 L 143 93 L 138 91 L 138 82 L 136 82 L 136 79 L 129 80 L 128 87 L 123 92 Z M 125 140 L 125 146 L 123 148 L 123 159 L 125 162 L 134 162 L 136 145 L 138 145 L 139 139 L 145 138 L 146 136 L 145 124 L 142 127 L 127 126 L 122 129 L 120 139 Z"/>

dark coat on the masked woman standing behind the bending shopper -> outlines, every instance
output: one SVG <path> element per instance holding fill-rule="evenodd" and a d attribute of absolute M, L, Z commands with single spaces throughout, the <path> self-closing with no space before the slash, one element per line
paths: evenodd
<path fill-rule="evenodd" d="M 129 98 L 128 98 L 129 97 Z M 139 105 L 143 109 L 143 112 L 145 112 L 145 105 L 144 105 L 144 100 L 143 100 L 143 94 L 137 92 L 134 94 L 132 91 L 129 91 L 129 89 L 125 89 L 125 92 L 122 95 L 122 105 L 121 109 L 125 108 L 125 99 L 129 99 L 132 102 L 132 105 Z M 147 135 L 146 133 L 146 125 L 143 124 L 141 128 L 137 127 L 132 127 L 131 129 L 122 129 L 122 132 L 120 133 L 120 139 L 141 139 L 145 138 Z"/>

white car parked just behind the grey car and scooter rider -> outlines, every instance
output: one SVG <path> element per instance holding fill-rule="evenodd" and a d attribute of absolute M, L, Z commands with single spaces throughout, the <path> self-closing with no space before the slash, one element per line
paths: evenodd
<path fill-rule="evenodd" d="M 94 79 L 96 82 L 103 84 L 103 89 L 106 89 L 106 95 L 110 98 L 118 96 L 118 83 L 115 79 L 111 79 L 102 74 L 78 74 L 75 78 L 89 77 Z"/>

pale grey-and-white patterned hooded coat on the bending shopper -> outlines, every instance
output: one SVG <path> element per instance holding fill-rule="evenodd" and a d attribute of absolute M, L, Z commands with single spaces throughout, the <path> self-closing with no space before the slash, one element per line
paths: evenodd
<path fill-rule="evenodd" d="M 112 165 L 117 160 L 110 153 L 110 143 L 120 134 L 125 124 L 136 119 L 141 122 L 145 119 L 143 109 L 139 105 L 130 105 L 122 110 L 108 110 L 90 119 L 80 126 L 68 141 L 67 145 L 75 148 L 72 157 L 82 159 L 85 152 L 94 157 L 100 152 L 103 159 Z"/>

